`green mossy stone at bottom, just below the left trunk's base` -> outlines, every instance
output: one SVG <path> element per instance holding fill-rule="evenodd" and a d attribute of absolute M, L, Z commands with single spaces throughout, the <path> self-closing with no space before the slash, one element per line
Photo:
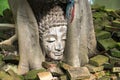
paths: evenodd
<path fill-rule="evenodd" d="M 46 70 L 45 69 L 31 70 L 24 76 L 24 78 L 25 78 L 25 80 L 34 80 L 37 78 L 37 73 L 44 72 L 44 71 L 46 71 Z"/>

